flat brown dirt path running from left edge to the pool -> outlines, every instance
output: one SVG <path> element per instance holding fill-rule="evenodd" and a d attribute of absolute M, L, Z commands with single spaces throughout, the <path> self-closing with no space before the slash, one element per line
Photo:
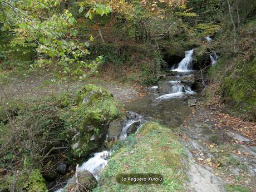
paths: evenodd
<path fill-rule="evenodd" d="M 55 93 L 65 91 L 77 91 L 83 85 L 88 83 L 102 86 L 109 90 L 117 100 L 127 102 L 137 99 L 144 95 L 139 85 L 131 85 L 130 83 L 120 83 L 117 81 L 108 82 L 104 78 L 88 77 L 83 81 L 51 81 L 51 75 L 29 76 L 24 79 L 14 79 L 5 85 L 2 85 L 3 91 L 10 97 L 33 98 L 45 95 L 53 95 Z M 0 95 L 3 93 L 0 90 Z"/>

